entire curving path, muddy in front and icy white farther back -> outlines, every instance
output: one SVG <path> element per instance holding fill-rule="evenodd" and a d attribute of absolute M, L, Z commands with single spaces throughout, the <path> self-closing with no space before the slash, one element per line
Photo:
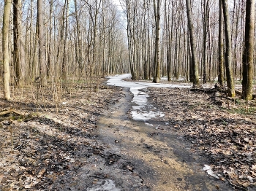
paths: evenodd
<path fill-rule="evenodd" d="M 129 74 L 108 80 L 124 87 L 124 96 L 97 123 L 99 140 L 108 149 L 105 165 L 95 171 L 108 176 L 98 177 L 87 190 L 232 190 L 203 171 L 207 160 L 191 152 L 187 141 L 165 130 L 164 114 L 148 103 L 143 89 L 174 86 L 121 81 L 124 77 Z"/>

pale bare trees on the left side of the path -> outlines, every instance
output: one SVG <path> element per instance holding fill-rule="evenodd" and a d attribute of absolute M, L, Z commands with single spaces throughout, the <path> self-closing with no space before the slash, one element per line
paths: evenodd
<path fill-rule="evenodd" d="M 0 14 L 6 99 L 10 84 L 60 84 L 129 72 L 126 34 L 110 0 L 7 0 Z"/>

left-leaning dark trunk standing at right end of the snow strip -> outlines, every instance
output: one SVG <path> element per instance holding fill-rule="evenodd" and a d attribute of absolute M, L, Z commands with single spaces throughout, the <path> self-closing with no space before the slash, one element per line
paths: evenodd
<path fill-rule="evenodd" d="M 190 0 L 186 0 L 186 5 L 187 5 L 186 6 L 187 7 L 187 20 L 188 20 L 191 55 L 192 55 L 192 78 L 193 78 L 192 82 L 194 85 L 199 85 L 198 66 L 197 66 L 197 58 L 196 58 L 196 53 L 195 53 L 195 39 L 194 39 L 194 34 L 193 34 Z"/>

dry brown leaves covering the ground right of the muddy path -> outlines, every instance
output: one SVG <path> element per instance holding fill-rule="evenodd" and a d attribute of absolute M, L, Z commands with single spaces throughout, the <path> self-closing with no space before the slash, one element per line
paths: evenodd
<path fill-rule="evenodd" d="M 219 179 L 233 187 L 256 188 L 256 113 L 251 101 L 227 101 L 222 106 L 208 99 L 211 95 L 185 89 L 150 88 L 149 95 L 165 112 L 171 130 L 184 135 L 193 150 L 211 160 L 211 168 Z M 230 110 L 227 109 L 230 106 Z M 244 114 L 239 114 L 244 112 Z"/>

